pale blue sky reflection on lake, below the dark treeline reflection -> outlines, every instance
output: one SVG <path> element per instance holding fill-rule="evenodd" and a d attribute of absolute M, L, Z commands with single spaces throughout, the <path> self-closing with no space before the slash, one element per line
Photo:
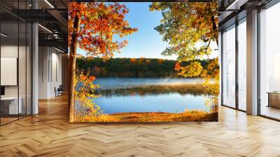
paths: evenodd
<path fill-rule="evenodd" d="M 178 93 L 146 96 L 99 97 L 95 101 L 106 114 L 120 112 L 183 112 L 186 109 L 208 111 L 204 96 L 179 95 Z"/>

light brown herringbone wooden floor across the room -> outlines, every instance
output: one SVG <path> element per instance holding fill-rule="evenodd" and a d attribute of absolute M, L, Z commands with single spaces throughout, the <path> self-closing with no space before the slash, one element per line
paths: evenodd
<path fill-rule="evenodd" d="M 221 107 L 218 123 L 68 123 L 66 97 L 0 127 L 0 156 L 280 156 L 280 123 Z"/>

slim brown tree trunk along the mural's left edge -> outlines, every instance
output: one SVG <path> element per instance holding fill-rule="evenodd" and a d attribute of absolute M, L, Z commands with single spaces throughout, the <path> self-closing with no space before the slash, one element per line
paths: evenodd
<path fill-rule="evenodd" d="M 80 18 L 76 15 L 73 22 L 73 34 L 70 44 L 69 54 L 69 122 L 75 121 L 74 108 L 75 108 L 75 86 L 73 79 L 76 72 L 76 54 L 78 48 L 78 33 L 80 32 Z"/>

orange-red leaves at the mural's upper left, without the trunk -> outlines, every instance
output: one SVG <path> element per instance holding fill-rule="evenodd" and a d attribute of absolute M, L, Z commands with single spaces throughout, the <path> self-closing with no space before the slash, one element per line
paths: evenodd
<path fill-rule="evenodd" d="M 68 43 L 71 43 L 73 21 L 77 15 L 80 19 L 79 47 L 87 51 L 87 56 L 113 57 L 113 53 L 127 45 L 126 40 L 116 41 L 113 36 L 122 38 L 137 32 L 137 28 L 130 27 L 125 20 L 128 11 L 125 5 L 118 3 L 69 3 Z"/>

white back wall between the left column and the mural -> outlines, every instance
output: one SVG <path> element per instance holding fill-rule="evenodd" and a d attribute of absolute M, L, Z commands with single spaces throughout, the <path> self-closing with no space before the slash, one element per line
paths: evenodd
<path fill-rule="evenodd" d="M 62 55 L 51 47 L 39 47 L 38 51 L 38 98 L 55 97 L 55 88 L 62 84 Z"/>

